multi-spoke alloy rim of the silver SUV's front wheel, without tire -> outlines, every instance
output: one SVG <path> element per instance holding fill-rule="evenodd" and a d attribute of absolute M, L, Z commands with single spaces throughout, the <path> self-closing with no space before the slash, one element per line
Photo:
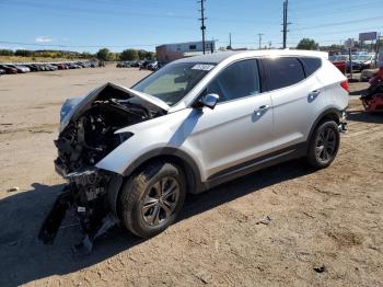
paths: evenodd
<path fill-rule="evenodd" d="M 178 182 L 171 176 L 156 181 L 148 188 L 141 205 L 143 221 L 149 226 L 159 226 L 173 215 L 179 198 Z"/>

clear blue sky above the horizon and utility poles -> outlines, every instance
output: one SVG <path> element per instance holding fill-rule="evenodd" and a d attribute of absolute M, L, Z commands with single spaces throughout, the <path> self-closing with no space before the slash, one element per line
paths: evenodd
<path fill-rule="evenodd" d="M 218 47 L 282 45 L 282 0 L 206 0 L 207 39 Z M 0 0 L 0 48 L 95 53 L 201 39 L 196 0 Z M 382 0 L 290 0 L 288 46 L 321 45 L 382 32 Z"/>

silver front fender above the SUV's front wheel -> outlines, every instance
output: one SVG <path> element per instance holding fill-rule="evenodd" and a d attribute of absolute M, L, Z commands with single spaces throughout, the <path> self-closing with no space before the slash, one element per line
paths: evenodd
<path fill-rule="evenodd" d="M 198 113 L 195 110 L 178 111 L 118 130 L 134 135 L 102 159 L 96 168 L 127 176 L 153 157 L 176 156 L 199 175 L 200 147 L 198 137 L 193 135 Z"/>

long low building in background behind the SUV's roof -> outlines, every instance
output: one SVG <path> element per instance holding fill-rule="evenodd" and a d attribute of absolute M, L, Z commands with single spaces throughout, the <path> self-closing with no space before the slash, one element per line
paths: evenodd
<path fill-rule="evenodd" d="M 216 51 L 214 41 L 205 42 L 206 53 Z M 162 64 L 167 64 L 170 61 L 181 59 L 184 57 L 192 57 L 202 54 L 204 45 L 202 42 L 187 42 L 187 43 L 176 43 L 176 44 L 164 44 L 155 47 L 156 60 Z"/>

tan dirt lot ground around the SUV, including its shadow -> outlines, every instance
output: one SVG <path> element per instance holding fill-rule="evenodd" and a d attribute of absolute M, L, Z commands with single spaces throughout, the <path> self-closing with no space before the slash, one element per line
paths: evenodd
<path fill-rule="evenodd" d="M 365 83 L 351 87 L 349 130 L 326 170 L 293 161 L 188 196 L 162 234 L 115 228 L 89 256 L 71 253 L 70 218 L 54 245 L 38 242 L 63 183 L 53 167 L 62 101 L 147 73 L 0 77 L 0 286 L 383 286 L 383 115 L 362 112 Z"/>

